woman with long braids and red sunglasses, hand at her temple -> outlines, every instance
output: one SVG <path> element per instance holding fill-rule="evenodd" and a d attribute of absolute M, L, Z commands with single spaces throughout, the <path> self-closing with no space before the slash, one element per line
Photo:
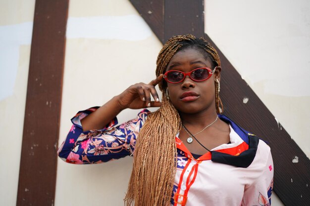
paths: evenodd
<path fill-rule="evenodd" d="M 221 114 L 220 72 L 218 54 L 207 41 L 171 38 L 159 52 L 157 78 L 79 112 L 59 156 L 96 164 L 133 155 L 128 206 L 270 205 L 270 148 Z M 114 127 L 123 109 L 158 106 Z"/>

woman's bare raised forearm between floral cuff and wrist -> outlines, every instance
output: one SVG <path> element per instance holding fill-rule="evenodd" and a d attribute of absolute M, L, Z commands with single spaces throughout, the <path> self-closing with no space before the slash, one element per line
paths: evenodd
<path fill-rule="evenodd" d="M 117 98 L 118 96 L 113 97 L 95 112 L 82 119 L 83 131 L 102 129 L 116 117 L 124 109 L 119 105 Z"/>

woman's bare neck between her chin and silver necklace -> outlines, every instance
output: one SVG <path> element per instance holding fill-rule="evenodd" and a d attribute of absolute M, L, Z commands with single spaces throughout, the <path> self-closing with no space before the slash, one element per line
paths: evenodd
<path fill-rule="evenodd" d="M 217 117 L 215 109 L 200 112 L 197 114 L 184 114 L 181 112 L 179 114 L 181 117 L 182 124 L 196 125 L 196 126 L 201 126 L 201 127 L 204 127 L 207 124 L 212 123 Z"/>

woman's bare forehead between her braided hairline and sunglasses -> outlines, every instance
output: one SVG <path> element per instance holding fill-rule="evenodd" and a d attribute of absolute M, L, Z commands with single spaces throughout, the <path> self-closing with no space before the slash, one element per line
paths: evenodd
<path fill-rule="evenodd" d="M 203 51 L 194 48 L 186 48 L 176 52 L 169 61 L 166 70 L 174 66 L 198 65 L 201 67 L 211 67 L 211 62 L 206 59 Z M 171 68 L 172 69 L 172 68 Z"/>

